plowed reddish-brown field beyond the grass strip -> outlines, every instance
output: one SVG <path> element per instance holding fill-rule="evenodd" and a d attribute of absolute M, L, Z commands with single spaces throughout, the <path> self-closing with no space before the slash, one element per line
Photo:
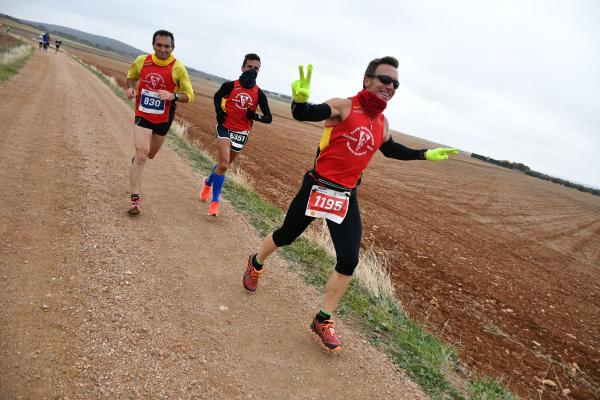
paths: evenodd
<path fill-rule="evenodd" d="M 127 62 L 78 55 L 124 85 Z M 213 157 L 216 87 L 195 82 L 196 102 L 177 110 Z M 272 100 L 271 108 L 273 123 L 255 124 L 238 164 L 284 210 L 321 129 L 294 121 L 287 104 Z M 432 145 L 403 134 L 396 141 Z M 563 389 L 600 398 L 599 197 L 468 153 L 444 163 L 378 154 L 359 200 L 363 244 L 387 255 L 407 313 L 456 345 L 473 370 L 527 398 L 564 398 Z"/>

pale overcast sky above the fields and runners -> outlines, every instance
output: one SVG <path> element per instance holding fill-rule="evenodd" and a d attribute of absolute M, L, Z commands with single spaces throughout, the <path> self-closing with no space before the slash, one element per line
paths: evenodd
<path fill-rule="evenodd" d="M 600 187 L 598 1 L 0 0 L 0 12 L 148 52 L 167 29 L 184 64 L 228 79 L 255 52 L 259 85 L 285 94 L 312 63 L 312 102 L 354 95 L 368 62 L 393 55 L 392 129 Z"/>

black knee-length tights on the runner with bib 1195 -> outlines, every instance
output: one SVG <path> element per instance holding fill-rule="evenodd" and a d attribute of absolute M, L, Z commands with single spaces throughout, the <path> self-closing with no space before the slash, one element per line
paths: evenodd
<path fill-rule="evenodd" d="M 317 184 L 317 181 L 307 172 L 300 190 L 288 208 L 283 225 L 273 232 L 273 242 L 277 247 L 287 246 L 294 242 L 314 220 L 314 217 L 305 215 L 310 191 L 314 184 Z M 348 212 L 342 223 L 336 224 L 327 220 L 327 228 L 329 228 L 336 253 L 335 270 L 342 275 L 352 275 L 358 265 L 362 236 L 356 190 L 351 191 Z"/>

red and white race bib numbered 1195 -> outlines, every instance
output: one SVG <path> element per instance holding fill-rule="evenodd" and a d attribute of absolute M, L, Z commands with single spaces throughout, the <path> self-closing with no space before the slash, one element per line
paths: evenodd
<path fill-rule="evenodd" d="M 310 197 L 306 205 L 305 215 L 315 218 L 326 218 L 341 224 L 350 203 L 350 192 L 338 192 L 319 185 L 310 189 Z"/>

